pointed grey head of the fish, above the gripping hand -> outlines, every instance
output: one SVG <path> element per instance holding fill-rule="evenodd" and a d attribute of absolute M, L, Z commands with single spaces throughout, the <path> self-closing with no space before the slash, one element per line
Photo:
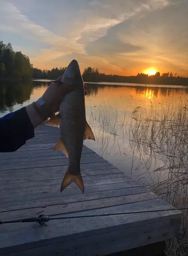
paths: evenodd
<path fill-rule="evenodd" d="M 76 60 L 72 60 L 66 68 L 63 76 L 60 76 L 56 81 L 69 85 L 80 84 L 80 81 L 83 82 L 78 62 Z"/>

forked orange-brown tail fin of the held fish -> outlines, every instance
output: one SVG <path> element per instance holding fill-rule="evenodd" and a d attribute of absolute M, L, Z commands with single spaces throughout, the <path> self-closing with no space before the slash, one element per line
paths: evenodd
<path fill-rule="evenodd" d="M 76 185 L 81 189 L 82 193 L 84 193 L 84 183 L 82 180 L 81 173 L 79 172 L 78 175 L 70 174 L 71 167 L 67 167 L 66 174 L 61 184 L 61 192 L 68 187 L 72 182 L 75 182 Z"/>

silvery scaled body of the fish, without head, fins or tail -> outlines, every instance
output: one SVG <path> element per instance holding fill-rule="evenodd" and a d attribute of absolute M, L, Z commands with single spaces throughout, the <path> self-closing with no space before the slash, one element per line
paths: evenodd
<path fill-rule="evenodd" d="M 79 100 L 77 100 L 79 99 Z M 79 169 L 86 127 L 84 87 L 65 95 L 60 104 L 60 134 L 67 149 L 69 165 Z"/>

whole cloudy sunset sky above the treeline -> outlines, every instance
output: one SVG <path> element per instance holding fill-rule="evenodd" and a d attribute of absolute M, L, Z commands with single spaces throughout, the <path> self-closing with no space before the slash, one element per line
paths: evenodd
<path fill-rule="evenodd" d="M 188 75 L 187 0 L 0 0 L 0 40 L 35 67 Z"/>

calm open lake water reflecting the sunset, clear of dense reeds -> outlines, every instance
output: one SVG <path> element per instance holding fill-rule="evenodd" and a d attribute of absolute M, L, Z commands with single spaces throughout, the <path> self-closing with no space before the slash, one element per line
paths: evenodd
<path fill-rule="evenodd" d="M 49 84 L 48 80 L 1 81 L 0 117 L 36 101 Z M 127 83 L 87 83 L 87 86 L 86 119 L 96 141 L 87 140 L 84 144 L 134 178 L 145 171 L 145 166 L 130 145 L 132 112 L 135 108 L 147 112 L 154 102 L 163 108 L 175 105 L 182 98 L 186 100 L 188 88 Z"/>

